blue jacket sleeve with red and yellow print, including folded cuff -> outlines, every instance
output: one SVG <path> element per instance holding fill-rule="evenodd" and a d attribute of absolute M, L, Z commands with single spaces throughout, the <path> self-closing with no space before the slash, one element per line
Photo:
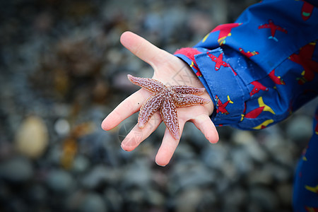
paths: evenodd
<path fill-rule="evenodd" d="M 175 52 L 211 95 L 216 125 L 263 129 L 317 95 L 318 8 L 313 4 L 261 1 L 235 23 L 218 25 L 194 47 Z"/>

